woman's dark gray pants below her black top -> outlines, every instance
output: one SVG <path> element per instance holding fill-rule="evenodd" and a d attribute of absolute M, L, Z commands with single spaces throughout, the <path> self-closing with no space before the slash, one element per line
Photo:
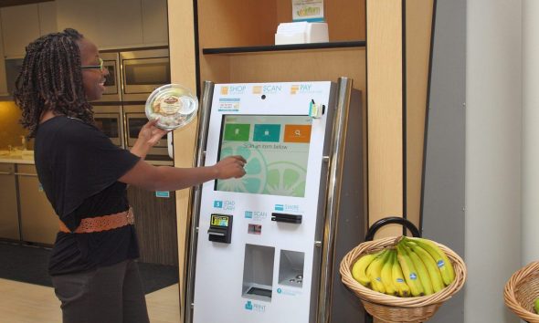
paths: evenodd
<path fill-rule="evenodd" d="M 64 323 L 149 323 L 137 263 L 52 276 Z"/>

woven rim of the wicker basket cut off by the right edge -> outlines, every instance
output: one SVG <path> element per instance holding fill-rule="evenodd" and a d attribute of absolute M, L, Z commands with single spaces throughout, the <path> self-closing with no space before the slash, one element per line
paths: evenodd
<path fill-rule="evenodd" d="M 503 288 L 503 299 L 505 305 L 519 318 L 528 322 L 538 323 L 539 315 L 527 310 L 516 298 L 518 287 L 521 284 L 525 284 L 527 279 L 533 277 L 539 277 L 539 261 L 533 261 L 513 273 Z"/>

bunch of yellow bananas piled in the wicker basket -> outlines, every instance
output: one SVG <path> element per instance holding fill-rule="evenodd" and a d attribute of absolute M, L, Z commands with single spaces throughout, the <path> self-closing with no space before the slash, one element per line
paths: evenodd
<path fill-rule="evenodd" d="M 361 285 L 397 297 L 431 295 L 449 286 L 455 271 L 432 241 L 402 236 L 394 246 L 361 256 L 352 276 Z"/>

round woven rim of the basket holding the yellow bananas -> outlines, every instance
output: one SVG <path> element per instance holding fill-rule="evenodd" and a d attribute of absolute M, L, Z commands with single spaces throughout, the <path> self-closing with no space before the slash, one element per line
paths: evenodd
<path fill-rule="evenodd" d="M 441 245 L 435 241 L 433 241 L 433 243 L 438 245 L 439 248 L 443 250 L 446 255 L 448 255 L 449 260 L 455 269 L 455 279 L 451 284 L 449 284 L 448 287 L 445 287 L 439 292 L 428 296 L 395 297 L 376 292 L 359 284 L 359 282 L 357 282 L 352 276 L 352 266 L 354 265 L 355 259 L 357 259 L 360 255 L 375 252 L 383 249 L 386 246 L 395 245 L 396 239 L 398 238 L 399 236 L 393 236 L 376 239 L 374 241 L 366 241 L 360 245 L 357 245 L 343 257 L 340 267 L 341 279 L 343 284 L 352 289 L 357 297 L 369 303 L 389 307 L 427 307 L 448 300 L 455 293 L 457 293 L 461 287 L 463 287 L 467 276 L 467 269 L 464 261 L 459 255 L 449 249 L 449 247 Z"/>

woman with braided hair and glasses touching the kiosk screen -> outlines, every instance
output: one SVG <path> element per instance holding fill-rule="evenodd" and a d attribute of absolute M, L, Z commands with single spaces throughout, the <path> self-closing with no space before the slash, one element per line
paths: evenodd
<path fill-rule="evenodd" d="M 144 162 L 166 133 L 155 121 L 131 151 L 116 147 L 93 125 L 89 103 L 100 99 L 107 74 L 98 48 L 66 29 L 26 47 L 16 80 L 22 124 L 36 138 L 37 175 L 60 220 L 49 273 L 67 323 L 149 321 L 128 184 L 173 191 L 245 174 L 240 156 L 190 169 Z"/>

